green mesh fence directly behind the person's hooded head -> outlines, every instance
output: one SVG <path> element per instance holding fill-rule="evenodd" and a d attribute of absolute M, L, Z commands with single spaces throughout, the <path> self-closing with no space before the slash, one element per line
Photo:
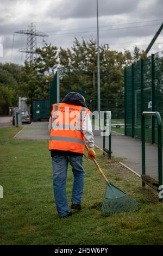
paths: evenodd
<path fill-rule="evenodd" d="M 51 105 L 57 102 L 57 72 L 50 92 Z M 97 110 L 97 72 L 60 68 L 60 101 L 68 92 L 78 92 L 85 97 L 91 111 Z M 124 88 L 110 82 L 108 72 L 101 72 L 101 111 L 111 111 L 112 118 L 124 118 Z"/>

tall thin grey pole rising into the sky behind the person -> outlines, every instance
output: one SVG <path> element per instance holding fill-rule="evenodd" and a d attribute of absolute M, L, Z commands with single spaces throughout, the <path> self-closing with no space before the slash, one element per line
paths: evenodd
<path fill-rule="evenodd" d="M 100 113 L 101 95 L 100 95 L 100 63 L 99 63 L 99 33 L 98 33 L 98 0 L 97 0 L 97 98 L 98 98 L 98 113 Z"/>

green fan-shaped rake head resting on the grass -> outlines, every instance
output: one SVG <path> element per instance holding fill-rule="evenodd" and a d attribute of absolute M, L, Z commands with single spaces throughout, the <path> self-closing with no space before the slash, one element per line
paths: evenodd
<path fill-rule="evenodd" d="M 137 210 L 139 204 L 119 188 L 106 183 L 105 196 L 102 204 L 102 213 L 104 216 L 110 214 L 121 214 L 122 212 L 129 212 Z"/>

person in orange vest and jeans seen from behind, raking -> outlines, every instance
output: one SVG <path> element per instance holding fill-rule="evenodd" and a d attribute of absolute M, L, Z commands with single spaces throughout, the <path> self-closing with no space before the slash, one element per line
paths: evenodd
<path fill-rule="evenodd" d="M 61 218 L 72 215 L 68 209 L 66 178 L 68 162 L 74 176 L 71 209 L 82 210 L 84 188 L 83 155 L 84 144 L 89 147 L 88 157 L 96 158 L 90 110 L 84 97 L 75 92 L 68 93 L 61 103 L 54 104 L 49 119 L 49 150 L 53 164 L 54 198 Z"/>

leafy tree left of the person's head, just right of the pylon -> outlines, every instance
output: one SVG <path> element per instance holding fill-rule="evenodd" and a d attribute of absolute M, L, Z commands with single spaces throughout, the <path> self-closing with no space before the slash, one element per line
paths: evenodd
<path fill-rule="evenodd" d="M 58 49 L 56 46 L 45 45 L 36 49 L 34 63 L 24 63 L 20 74 L 21 92 L 28 97 L 28 102 L 34 99 L 48 99 L 58 65 Z"/>

